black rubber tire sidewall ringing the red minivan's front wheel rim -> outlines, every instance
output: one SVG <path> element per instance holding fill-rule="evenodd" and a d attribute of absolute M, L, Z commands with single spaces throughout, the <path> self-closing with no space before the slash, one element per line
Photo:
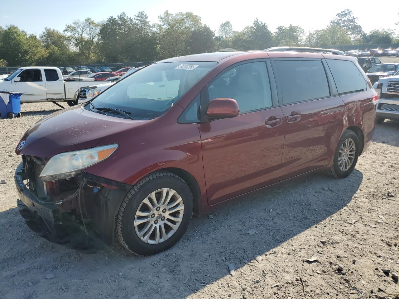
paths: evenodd
<path fill-rule="evenodd" d="M 166 241 L 158 244 L 147 244 L 140 240 L 134 229 L 134 217 L 144 198 L 153 191 L 162 188 L 174 189 L 183 199 L 184 214 L 178 230 Z M 186 232 L 193 214 L 193 198 L 189 187 L 179 178 L 172 176 L 158 177 L 144 183 L 132 195 L 122 215 L 122 237 L 128 248 L 135 254 L 148 256 L 169 249 L 176 244 Z"/>

